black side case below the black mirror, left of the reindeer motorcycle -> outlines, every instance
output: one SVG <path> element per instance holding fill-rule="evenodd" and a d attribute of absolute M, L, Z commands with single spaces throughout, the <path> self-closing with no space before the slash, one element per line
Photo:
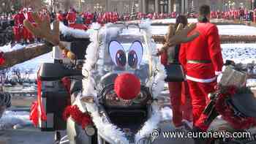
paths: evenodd
<path fill-rule="evenodd" d="M 41 81 L 41 83 L 41 105 L 45 110 L 47 121 L 39 120 L 39 128 L 48 132 L 65 130 L 66 121 L 62 117 L 62 113 L 70 99 L 68 91 L 62 86 L 61 80 Z M 39 107 L 39 109 L 41 108 Z"/>

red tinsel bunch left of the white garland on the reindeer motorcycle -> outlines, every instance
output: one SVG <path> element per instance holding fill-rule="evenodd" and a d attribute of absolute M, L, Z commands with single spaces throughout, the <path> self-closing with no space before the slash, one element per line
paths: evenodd
<path fill-rule="evenodd" d="M 71 116 L 77 124 L 82 126 L 83 129 L 89 124 L 92 124 L 91 116 L 88 113 L 82 113 L 77 105 L 69 105 L 65 108 L 63 113 L 64 120 L 67 121 L 69 116 Z"/>

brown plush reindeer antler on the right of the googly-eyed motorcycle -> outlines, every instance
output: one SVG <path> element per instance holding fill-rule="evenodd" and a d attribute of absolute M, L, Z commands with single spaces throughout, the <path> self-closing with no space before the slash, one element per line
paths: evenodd
<path fill-rule="evenodd" d="M 196 26 L 197 26 L 196 23 L 190 23 L 189 26 L 186 26 L 185 28 L 183 28 L 184 27 L 183 24 L 179 23 L 178 28 L 176 29 L 175 35 L 170 39 L 166 39 L 167 42 L 159 50 L 159 52 L 157 53 L 157 56 L 161 55 L 165 50 L 167 50 L 167 48 L 170 48 L 174 45 L 178 45 L 181 43 L 190 42 L 193 39 L 197 38 L 199 36 L 198 31 L 196 31 L 195 34 L 192 34 L 189 37 L 187 36 L 187 34 L 189 34 L 192 30 L 194 30 Z"/>

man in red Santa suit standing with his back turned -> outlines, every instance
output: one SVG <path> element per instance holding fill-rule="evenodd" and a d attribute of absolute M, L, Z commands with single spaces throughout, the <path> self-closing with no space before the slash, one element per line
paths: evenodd
<path fill-rule="evenodd" d="M 200 7 L 197 27 L 199 37 L 181 45 L 179 60 L 187 72 L 187 82 L 192 96 L 194 131 L 205 132 L 207 116 L 203 110 L 208 105 L 208 94 L 217 86 L 217 76 L 222 72 L 223 59 L 217 26 L 210 23 L 210 7 Z"/>

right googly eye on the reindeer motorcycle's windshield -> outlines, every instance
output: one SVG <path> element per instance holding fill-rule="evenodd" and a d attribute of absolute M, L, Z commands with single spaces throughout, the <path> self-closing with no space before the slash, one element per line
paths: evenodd
<path fill-rule="evenodd" d="M 128 53 L 128 64 L 129 67 L 137 69 L 140 66 L 140 62 L 143 58 L 143 45 L 140 41 L 132 42 Z"/>

